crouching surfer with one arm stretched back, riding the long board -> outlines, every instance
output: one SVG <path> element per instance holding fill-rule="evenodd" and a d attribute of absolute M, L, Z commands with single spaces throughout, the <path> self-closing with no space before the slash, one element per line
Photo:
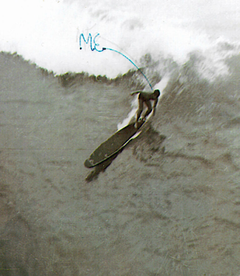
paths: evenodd
<path fill-rule="evenodd" d="M 148 110 L 143 116 L 143 120 L 153 111 L 153 116 L 155 115 L 155 108 L 158 103 L 158 97 L 160 95 L 160 91 L 158 89 L 154 90 L 153 93 L 143 92 L 143 91 L 137 91 L 131 93 L 131 96 L 139 94 L 138 95 L 138 112 L 137 112 L 137 119 L 136 119 L 136 128 L 138 128 L 138 120 L 141 116 L 141 113 L 143 112 L 143 103 L 145 103 L 148 107 Z M 150 100 L 154 100 L 153 108 Z"/>

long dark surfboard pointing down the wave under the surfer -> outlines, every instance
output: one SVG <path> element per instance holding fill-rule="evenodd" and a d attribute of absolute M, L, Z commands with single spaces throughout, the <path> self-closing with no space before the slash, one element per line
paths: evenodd
<path fill-rule="evenodd" d="M 95 151 L 85 160 L 84 166 L 92 168 L 102 163 L 113 154 L 120 151 L 136 134 L 146 121 L 138 122 L 138 128 L 134 127 L 135 123 L 131 123 L 126 127 L 118 130 L 108 140 L 103 142 Z"/>

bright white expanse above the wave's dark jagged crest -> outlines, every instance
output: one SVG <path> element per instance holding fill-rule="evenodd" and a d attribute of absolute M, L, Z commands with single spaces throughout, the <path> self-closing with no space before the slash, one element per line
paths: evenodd
<path fill-rule="evenodd" d="M 240 6 L 223 2 L 8 1 L 0 17 L 6 26 L 0 50 L 56 74 L 115 78 L 137 66 L 147 79 L 170 73 L 194 53 L 199 73 L 213 79 L 229 73 L 225 59 L 239 53 Z M 80 50 L 81 34 L 87 41 L 89 33 L 93 48 L 82 39 Z"/>

